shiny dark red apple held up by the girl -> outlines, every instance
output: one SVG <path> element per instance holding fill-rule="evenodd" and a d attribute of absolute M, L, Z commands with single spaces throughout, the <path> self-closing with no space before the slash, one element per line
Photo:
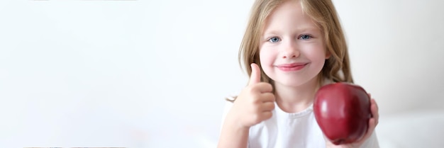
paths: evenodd
<path fill-rule="evenodd" d="M 316 92 L 313 112 L 323 134 L 333 144 L 360 140 L 372 116 L 367 92 L 345 82 L 322 86 Z"/>

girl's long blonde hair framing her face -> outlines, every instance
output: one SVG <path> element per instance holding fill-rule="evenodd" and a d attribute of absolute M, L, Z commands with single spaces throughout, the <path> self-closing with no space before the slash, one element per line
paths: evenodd
<path fill-rule="evenodd" d="M 240 44 L 239 64 L 244 67 L 251 76 L 251 63 L 256 63 L 259 67 L 259 40 L 264 28 L 265 20 L 270 13 L 288 0 L 257 0 L 251 9 L 251 15 L 248 21 L 245 35 Z M 310 16 L 318 25 L 324 35 L 326 50 L 330 57 L 326 59 L 319 78 L 326 77 L 335 82 L 343 81 L 353 83 L 350 71 L 350 59 L 348 57 L 348 47 L 345 36 L 341 28 L 338 15 L 331 0 L 299 0 L 302 11 Z M 262 69 L 262 67 L 261 67 Z M 322 79 L 318 79 L 321 84 Z M 262 70 L 261 81 L 272 83 Z"/>

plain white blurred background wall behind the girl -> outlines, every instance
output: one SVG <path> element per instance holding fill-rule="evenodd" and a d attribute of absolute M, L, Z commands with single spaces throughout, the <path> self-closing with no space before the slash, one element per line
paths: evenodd
<path fill-rule="evenodd" d="M 0 147 L 215 147 L 252 2 L 0 1 Z M 334 3 L 382 119 L 443 110 L 443 1 Z"/>

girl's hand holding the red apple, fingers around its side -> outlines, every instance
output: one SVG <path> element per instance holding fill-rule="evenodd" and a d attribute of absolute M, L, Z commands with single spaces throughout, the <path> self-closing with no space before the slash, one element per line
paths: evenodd
<path fill-rule="evenodd" d="M 368 128 L 367 132 L 365 133 L 365 135 L 357 142 L 353 142 L 351 144 L 340 144 L 340 145 L 335 145 L 330 140 L 328 140 L 326 138 L 326 145 L 328 148 L 345 148 L 345 147 L 357 148 L 357 147 L 361 147 L 361 145 L 364 144 L 365 140 L 367 140 L 373 134 L 374 128 L 378 124 L 378 120 L 379 120 L 379 113 L 378 113 L 379 109 L 378 109 L 376 101 L 374 101 L 372 96 L 370 96 L 370 93 L 369 93 L 369 97 L 371 98 L 370 99 L 370 110 L 372 110 L 372 118 L 370 118 L 370 120 L 369 120 L 369 128 Z"/>

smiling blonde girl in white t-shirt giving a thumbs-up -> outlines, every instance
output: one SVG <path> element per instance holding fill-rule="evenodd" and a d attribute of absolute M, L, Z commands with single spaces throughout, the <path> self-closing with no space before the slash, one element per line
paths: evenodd
<path fill-rule="evenodd" d="M 250 81 L 227 101 L 218 147 L 379 147 L 374 99 L 369 129 L 352 144 L 332 144 L 314 118 L 318 88 L 353 83 L 331 0 L 255 1 L 239 57 Z"/>

